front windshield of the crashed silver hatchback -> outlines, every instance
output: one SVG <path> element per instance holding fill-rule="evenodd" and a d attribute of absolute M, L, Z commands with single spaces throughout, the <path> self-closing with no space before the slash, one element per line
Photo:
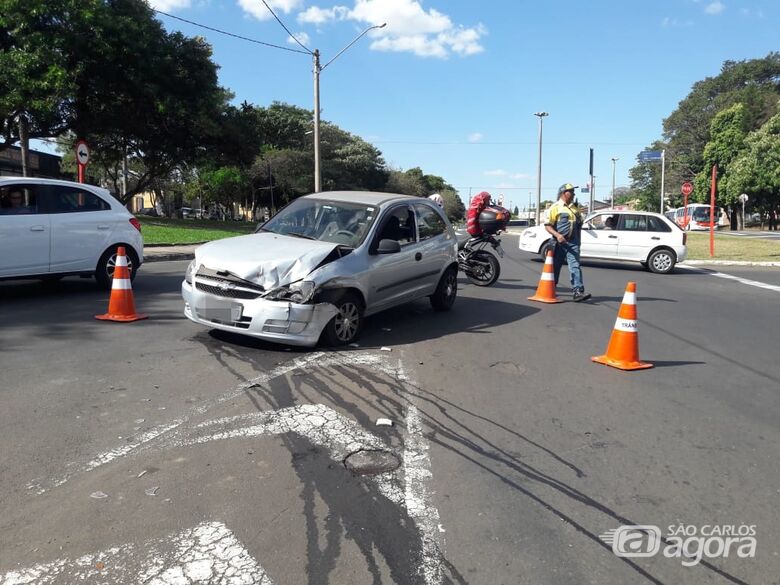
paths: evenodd
<path fill-rule="evenodd" d="M 361 203 L 301 197 L 258 231 L 357 248 L 368 234 L 377 211 L 376 207 Z"/>

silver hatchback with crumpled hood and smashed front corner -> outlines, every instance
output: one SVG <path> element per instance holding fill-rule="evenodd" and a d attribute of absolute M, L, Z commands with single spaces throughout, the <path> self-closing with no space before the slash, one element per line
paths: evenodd
<path fill-rule="evenodd" d="M 299 197 L 257 233 L 204 244 L 182 282 L 185 316 L 290 345 L 354 341 L 364 317 L 428 297 L 449 310 L 458 246 L 428 199 L 334 191 Z M 422 326 L 422 325 L 421 325 Z"/>

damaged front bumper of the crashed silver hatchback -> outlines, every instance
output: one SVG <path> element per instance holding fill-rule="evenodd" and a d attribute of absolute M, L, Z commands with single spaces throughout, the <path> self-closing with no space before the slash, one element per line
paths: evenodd
<path fill-rule="evenodd" d="M 199 291 L 186 280 L 181 284 L 184 316 L 223 331 L 259 339 L 313 347 L 336 315 L 330 303 L 300 305 L 288 301 L 232 299 Z"/>

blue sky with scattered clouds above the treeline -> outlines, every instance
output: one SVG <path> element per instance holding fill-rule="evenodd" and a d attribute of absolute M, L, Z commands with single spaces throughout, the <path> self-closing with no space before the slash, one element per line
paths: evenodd
<path fill-rule="evenodd" d="M 777 0 L 266 0 L 328 66 L 322 119 L 379 148 L 387 163 L 422 167 L 469 192 L 536 197 L 538 119 L 544 120 L 542 198 L 588 180 L 596 196 L 629 184 L 628 170 L 661 137 L 693 83 L 725 60 L 780 50 Z M 235 34 L 299 48 L 262 0 L 151 0 L 159 10 Z M 313 107 L 311 57 L 254 45 L 160 16 L 202 35 L 220 82 L 265 106 Z M 586 200 L 587 195 L 581 196 Z"/>

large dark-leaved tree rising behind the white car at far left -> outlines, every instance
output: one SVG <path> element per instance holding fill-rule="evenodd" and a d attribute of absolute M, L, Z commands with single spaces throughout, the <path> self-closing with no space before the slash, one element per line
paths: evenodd
<path fill-rule="evenodd" d="M 31 138 L 70 131 L 114 191 L 118 162 L 140 163 L 129 198 L 215 140 L 229 95 L 211 48 L 166 33 L 145 0 L 0 0 L 0 15 L 0 146 L 20 112 Z"/>

